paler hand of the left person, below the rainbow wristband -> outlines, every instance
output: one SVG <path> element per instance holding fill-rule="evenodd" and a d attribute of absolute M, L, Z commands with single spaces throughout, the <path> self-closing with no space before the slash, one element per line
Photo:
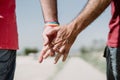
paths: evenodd
<path fill-rule="evenodd" d="M 44 46 L 40 52 L 40 58 L 39 58 L 40 63 L 43 61 L 43 59 L 46 59 L 48 56 L 55 55 L 55 52 L 52 49 L 51 42 L 56 37 L 58 30 L 59 30 L 58 27 L 51 27 L 51 26 L 45 27 L 45 29 L 43 31 Z"/>

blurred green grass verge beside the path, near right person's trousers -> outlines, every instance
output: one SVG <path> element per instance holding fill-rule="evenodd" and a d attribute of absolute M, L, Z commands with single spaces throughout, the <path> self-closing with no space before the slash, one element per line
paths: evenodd
<path fill-rule="evenodd" d="M 90 63 L 101 72 L 103 73 L 106 72 L 106 61 L 105 61 L 105 58 L 102 57 L 102 52 L 81 54 L 80 58 Z"/>

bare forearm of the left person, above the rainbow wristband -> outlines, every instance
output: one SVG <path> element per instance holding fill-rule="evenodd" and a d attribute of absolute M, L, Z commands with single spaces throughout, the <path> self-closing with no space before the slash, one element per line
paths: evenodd
<path fill-rule="evenodd" d="M 40 0 L 44 21 L 57 21 L 57 0 Z"/>

